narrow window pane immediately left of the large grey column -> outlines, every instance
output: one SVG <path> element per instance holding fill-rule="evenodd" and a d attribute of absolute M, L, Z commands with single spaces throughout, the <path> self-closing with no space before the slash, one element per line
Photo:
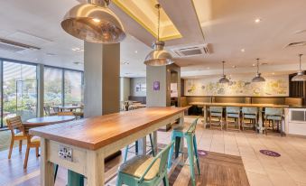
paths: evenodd
<path fill-rule="evenodd" d="M 65 105 L 81 105 L 83 103 L 82 72 L 64 70 Z"/>

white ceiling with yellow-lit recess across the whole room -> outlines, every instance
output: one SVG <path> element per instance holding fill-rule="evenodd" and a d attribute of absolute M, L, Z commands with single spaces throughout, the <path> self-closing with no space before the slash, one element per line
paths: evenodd
<path fill-rule="evenodd" d="M 155 2 L 146 1 L 147 5 Z M 83 51 L 72 49 L 82 49 L 83 42 L 60 28 L 63 15 L 78 3 L 77 0 L 2 1 L 0 38 L 32 44 L 42 50 L 25 53 L 0 50 L 0 57 L 82 70 Z M 167 0 L 160 4 L 182 36 L 166 41 L 169 51 L 203 43 L 210 43 L 212 47 L 210 54 L 194 57 L 179 58 L 173 53 L 184 78 L 221 74 L 222 60 L 227 61 L 227 74 L 254 73 L 256 58 L 264 63 L 260 66 L 264 74 L 288 74 L 298 69 L 298 54 L 306 54 L 305 46 L 285 48 L 290 42 L 306 42 L 304 0 L 294 0 L 294 3 L 288 0 Z M 111 4 L 110 8 L 128 33 L 121 43 L 121 76 L 144 77 L 143 62 L 155 40 L 154 34 L 119 6 Z M 154 18 L 151 19 L 154 25 Z M 255 19 L 261 21 L 255 23 Z M 306 64 L 302 67 L 306 69 Z"/>

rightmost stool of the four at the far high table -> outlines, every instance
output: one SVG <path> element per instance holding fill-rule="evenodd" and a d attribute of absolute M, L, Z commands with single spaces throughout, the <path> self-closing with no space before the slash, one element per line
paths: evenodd
<path fill-rule="evenodd" d="M 268 126 L 268 123 L 272 121 L 272 127 Z M 282 121 L 283 121 L 283 108 L 276 107 L 265 107 L 264 108 L 264 132 L 267 135 L 267 129 L 271 128 L 274 130 L 274 126 L 276 125 L 277 131 L 281 133 L 283 136 L 282 129 Z"/>

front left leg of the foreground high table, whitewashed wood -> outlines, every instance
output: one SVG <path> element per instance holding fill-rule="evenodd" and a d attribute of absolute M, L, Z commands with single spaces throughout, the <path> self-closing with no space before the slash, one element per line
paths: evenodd
<path fill-rule="evenodd" d="M 53 163 L 47 159 L 48 154 L 46 140 L 41 138 L 41 185 L 53 186 L 54 185 L 54 166 Z"/>

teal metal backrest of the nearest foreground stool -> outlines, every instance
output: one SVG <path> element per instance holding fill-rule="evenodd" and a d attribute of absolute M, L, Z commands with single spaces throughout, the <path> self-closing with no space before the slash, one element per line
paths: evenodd
<path fill-rule="evenodd" d="M 172 141 L 172 143 L 168 144 L 164 149 L 162 149 L 162 151 L 160 153 L 158 153 L 154 157 L 152 163 L 150 163 L 150 165 L 144 171 L 144 174 L 140 178 L 139 183 L 142 183 L 142 181 L 144 181 L 144 176 L 150 171 L 150 169 L 153 167 L 154 163 L 156 163 L 157 160 L 160 161 L 159 168 L 158 168 L 158 175 L 162 175 L 162 172 L 167 171 L 166 165 L 167 165 L 167 161 L 168 161 L 169 151 L 170 151 L 170 148 L 172 147 L 173 144 L 174 144 L 174 141 Z"/>

